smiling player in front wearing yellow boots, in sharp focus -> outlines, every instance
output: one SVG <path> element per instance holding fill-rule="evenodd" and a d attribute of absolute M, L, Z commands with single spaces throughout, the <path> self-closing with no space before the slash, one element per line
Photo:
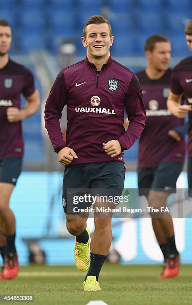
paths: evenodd
<path fill-rule="evenodd" d="M 59 73 L 47 99 L 45 126 L 59 161 L 67 165 L 63 206 L 67 228 L 76 236 L 76 265 L 80 271 L 85 271 L 90 264 L 87 219 L 68 215 L 66 188 L 123 189 L 123 151 L 140 137 L 145 108 L 137 77 L 110 57 L 113 36 L 108 21 L 102 16 L 88 19 L 82 42 L 87 48 L 87 58 Z M 68 117 L 66 143 L 59 124 L 65 105 Z M 126 132 L 124 107 L 130 121 Z M 84 290 L 100 290 L 98 275 L 110 248 L 111 236 L 111 219 L 96 218 L 91 265 Z"/>

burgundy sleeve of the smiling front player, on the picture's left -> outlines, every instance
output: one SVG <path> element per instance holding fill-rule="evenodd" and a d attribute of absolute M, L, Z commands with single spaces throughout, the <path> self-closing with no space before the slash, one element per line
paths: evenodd
<path fill-rule="evenodd" d="M 45 105 L 45 128 L 57 153 L 66 147 L 59 122 L 62 116 L 62 110 L 66 104 L 67 88 L 62 70 L 53 84 Z"/>

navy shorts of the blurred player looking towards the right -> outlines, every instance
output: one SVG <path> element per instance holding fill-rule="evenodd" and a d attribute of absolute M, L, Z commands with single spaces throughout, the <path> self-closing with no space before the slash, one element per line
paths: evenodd
<path fill-rule="evenodd" d="M 139 167 L 138 186 L 139 195 L 148 196 L 150 189 L 176 192 L 176 182 L 182 171 L 183 163 L 165 162 L 156 167 Z"/>

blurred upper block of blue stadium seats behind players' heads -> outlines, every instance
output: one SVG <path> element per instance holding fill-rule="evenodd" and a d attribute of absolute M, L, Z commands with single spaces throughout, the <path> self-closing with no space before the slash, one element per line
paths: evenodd
<path fill-rule="evenodd" d="M 55 52 L 62 39 L 75 38 L 78 54 L 85 54 L 80 40 L 83 27 L 90 16 L 102 14 L 103 7 L 108 8 L 105 12 L 115 42 L 119 41 L 113 47 L 115 54 L 143 55 L 144 40 L 154 33 L 173 37 L 174 54 L 181 54 L 182 50 L 186 54 L 186 44 L 184 47 L 177 41 L 185 39 L 185 24 L 192 17 L 192 0 L 0 0 L 0 18 L 13 27 L 15 50 L 19 46 L 22 52 L 29 50 L 31 41 L 33 48 L 48 47 Z M 127 37 L 134 41 L 134 48 Z"/>

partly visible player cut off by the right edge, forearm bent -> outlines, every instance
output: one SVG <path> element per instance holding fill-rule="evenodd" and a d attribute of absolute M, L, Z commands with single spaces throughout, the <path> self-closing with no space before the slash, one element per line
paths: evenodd
<path fill-rule="evenodd" d="M 186 25 L 185 34 L 192 52 L 192 19 Z M 188 105 L 181 105 L 182 96 L 185 96 Z M 189 196 L 192 197 L 192 56 L 183 59 L 174 68 L 167 106 L 177 118 L 182 119 L 189 114 L 188 183 Z"/>

